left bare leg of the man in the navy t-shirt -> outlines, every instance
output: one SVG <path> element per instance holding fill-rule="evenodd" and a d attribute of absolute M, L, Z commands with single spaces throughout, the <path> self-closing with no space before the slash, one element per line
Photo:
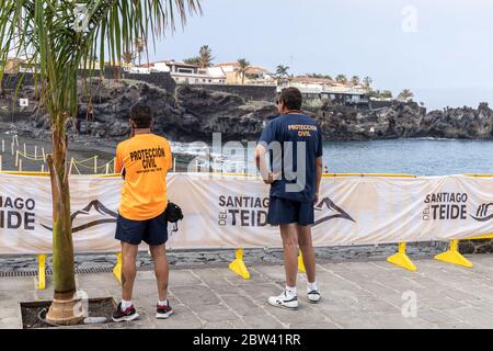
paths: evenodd
<path fill-rule="evenodd" d="M 296 287 L 298 275 L 298 235 L 296 224 L 280 225 L 280 236 L 284 248 L 284 269 L 286 271 L 286 285 Z"/>

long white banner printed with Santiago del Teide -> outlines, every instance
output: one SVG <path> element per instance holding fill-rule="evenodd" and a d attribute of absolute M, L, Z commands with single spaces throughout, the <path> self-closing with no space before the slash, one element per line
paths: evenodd
<path fill-rule="evenodd" d="M 72 177 L 70 185 L 76 251 L 118 251 L 122 180 Z M 278 228 L 266 224 L 268 186 L 257 178 L 171 174 L 169 197 L 185 216 L 168 244 L 173 249 L 280 246 Z M 493 178 L 324 178 L 316 220 L 316 246 L 493 234 Z M 0 174 L 0 254 L 50 251 L 49 179 Z"/>

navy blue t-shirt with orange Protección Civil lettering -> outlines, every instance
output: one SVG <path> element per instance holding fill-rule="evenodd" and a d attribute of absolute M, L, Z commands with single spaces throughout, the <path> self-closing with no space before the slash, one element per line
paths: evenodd
<path fill-rule="evenodd" d="M 272 171 L 282 177 L 271 196 L 313 202 L 316 159 L 323 155 L 320 126 L 303 114 L 284 114 L 265 126 L 260 141 L 270 150 Z"/>

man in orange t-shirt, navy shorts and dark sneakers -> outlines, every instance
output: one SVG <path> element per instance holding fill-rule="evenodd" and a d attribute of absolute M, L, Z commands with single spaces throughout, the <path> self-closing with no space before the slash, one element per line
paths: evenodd
<path fill-rule="evenodd" d="M 150 247 L 158 281 L 157 318 L 173 313 L 168 302 L 169 268 L 167 174 L 172 165 L 170 144 L 151 133 L 152 111 L 137 103 L 131 107 L 131 137 L 116 148 L 115 172 L 124 177 L 115 238 L 122 241 L 122 302 L 113 314 L 114 321 L 138 317 L 131 302 L 136 276 L 138 246 L 144 240 Z"/>

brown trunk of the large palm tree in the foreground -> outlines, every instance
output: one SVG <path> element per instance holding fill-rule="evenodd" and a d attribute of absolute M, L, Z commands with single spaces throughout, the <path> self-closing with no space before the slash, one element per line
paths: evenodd
<path fill-rule="evenodd" d="M 53 272 L 55 296 L 47 318 L 60 325 L 78 324 L 83 318 L 82 304 L 76 298 L 70 190 L 67 170 L 68 137 L 66 113 L 53 124 L 53 156 L 47 158 L 53 194 Z"/>

